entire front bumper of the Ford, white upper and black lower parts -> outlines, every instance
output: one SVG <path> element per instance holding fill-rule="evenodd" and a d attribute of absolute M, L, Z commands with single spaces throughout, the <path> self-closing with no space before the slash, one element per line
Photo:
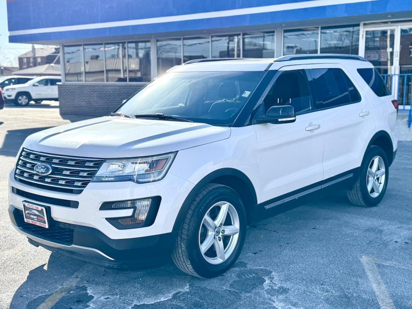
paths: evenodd
<path fill-rule="evenodd" d="M 190 182 L 169 173 L 162 181 L 151 184 L 90 183 L 82 193 L 73 195 L 21 184 L 13 172 L 9 178 L 9 216 L 14 228 L 28 237 L 30 244 L 119 269 L 154 265 L 170 258 L 177 236 L 172 232 L 173 225 L 193 188 Z M 107 202 L 159 195 L 159 205 L 150 206 L 158 207 L 150 226 L 119 229 L 119 224 L 113 224 L 115 218 L 134 212 L 124 208 L 101 210 Z M 24 221 L 23 202 L 45 208 L 48 228 Z"/>

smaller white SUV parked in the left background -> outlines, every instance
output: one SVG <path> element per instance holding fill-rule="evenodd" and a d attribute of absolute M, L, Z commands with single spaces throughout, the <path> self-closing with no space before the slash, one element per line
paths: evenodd
<path fill-rule="evenodd" d="M 61 82 L 59 76 L 36 77 L 26 84 L 6 86 L 3 96 L 6 102 L 14 102 L 17 106 L 26 106 L 30 101 L 41 103 L 43 100 L 59 100 L 57 83 Z"/>

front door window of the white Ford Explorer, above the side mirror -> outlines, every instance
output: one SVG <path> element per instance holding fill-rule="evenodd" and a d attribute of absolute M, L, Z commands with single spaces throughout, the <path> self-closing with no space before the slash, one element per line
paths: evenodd
<path fill-rule="evenodd" d="M 292 105 L 295 113 L 303 113 L 313 109 L 312 97 L 303 70 L 281 73 L 265 99 L 265 112 L 272 106 Z"/>

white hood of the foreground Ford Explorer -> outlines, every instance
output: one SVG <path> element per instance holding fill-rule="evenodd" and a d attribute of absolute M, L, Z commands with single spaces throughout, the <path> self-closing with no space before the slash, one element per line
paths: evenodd
<path fill-rule="evenodd" d="M 106 116 L 37 132 L 23 146 L 63 156 L 131 158 L 216 142 L 230 132 L 204 123 Z"/>

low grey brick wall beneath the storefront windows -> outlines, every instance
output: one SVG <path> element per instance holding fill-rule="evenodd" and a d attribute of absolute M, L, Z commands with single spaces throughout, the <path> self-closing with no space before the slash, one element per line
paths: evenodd
<path fill-rule="evenodd" d="M 136 84 L 61 84 L 60 114 L 105 116 L 140 88 Z"/>

